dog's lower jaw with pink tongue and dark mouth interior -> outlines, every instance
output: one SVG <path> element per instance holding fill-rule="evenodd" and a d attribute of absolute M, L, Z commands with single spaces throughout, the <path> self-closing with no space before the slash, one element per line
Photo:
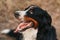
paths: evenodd
<path fill-rule="evenodd" d="M 20 31 L 22 31 L 23 29 L 25 29 L 25 28 L 30 28 L 30 27 L 32 27 L 33 26 L 33 22 L 31 22 L 31 21 L 22 21 L 22 22 L 20 22 L 20 24 L 18 25 L 18 27 L 15 29 L 15 33 L 16 32 L 20 32 Z"/>

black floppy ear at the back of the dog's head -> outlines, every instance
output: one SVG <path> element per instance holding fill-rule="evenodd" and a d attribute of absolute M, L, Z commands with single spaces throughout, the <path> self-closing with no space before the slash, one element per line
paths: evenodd
<path fill-rule="evenodd" d="M 43 22 L 44 24 L 51 25 L 52 18 L 51 18 L 51 16 L 48 14 L 47 11 L 44 10 L 44 11 L 40 14 L 40 17 L 41 17 L 42 22 Z"/>

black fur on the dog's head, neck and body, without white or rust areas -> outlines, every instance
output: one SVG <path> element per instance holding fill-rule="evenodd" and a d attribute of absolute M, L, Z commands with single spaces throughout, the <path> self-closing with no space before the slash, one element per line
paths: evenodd
<path fill-rule="evenodd" d="M 26 8 L 25 10 L 27 10 L 28 8 Z M 45 10 L 41 9 L 38 6 L 33 7 L 31 10 L 33 14 L 31 14 L 30 11 L 28 11 L 27 16 L 35 19 L 38 22 L 38 33 L 36 40 L 57 40 L 56 30 L 51 25 L 51 16 Z M 8 33 L 8 35 L 16 37 L 17 40 L 22 40 L 23 35 L 20 33 L 13 33 L 13 31 L 14 30 Z"/>

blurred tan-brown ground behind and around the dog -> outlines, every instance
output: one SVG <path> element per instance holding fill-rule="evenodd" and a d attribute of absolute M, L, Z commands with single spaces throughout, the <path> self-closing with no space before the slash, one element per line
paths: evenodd
<path fill-rule="evenodd" d="M 51 15 L 52 25 L 56 28 L 57 38 L 60 40 L 60 0 L 0 0 L 0 31 L 17 27 L 19 21 L 14 17 L 14 12 L 18 9 L 24 10 L 32 4 Z M 15 38 L 0 34 L 0 40 L 15 40 Z"/>

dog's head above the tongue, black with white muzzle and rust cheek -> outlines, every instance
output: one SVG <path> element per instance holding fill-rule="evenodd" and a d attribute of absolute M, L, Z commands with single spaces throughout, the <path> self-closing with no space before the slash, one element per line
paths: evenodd
<path fill-rule="evenodd" d="M 24 11 L 16 11 L 15 17 L 25 24 L 30 24 L 33 28 L 38 28 L 40 25 L 51 25 L 51 17 L 50 15 L 43 9 L 38 6 L 31 5 L 27 7 Z M 25 27 L 26 28 L 26 27 Z"/>

